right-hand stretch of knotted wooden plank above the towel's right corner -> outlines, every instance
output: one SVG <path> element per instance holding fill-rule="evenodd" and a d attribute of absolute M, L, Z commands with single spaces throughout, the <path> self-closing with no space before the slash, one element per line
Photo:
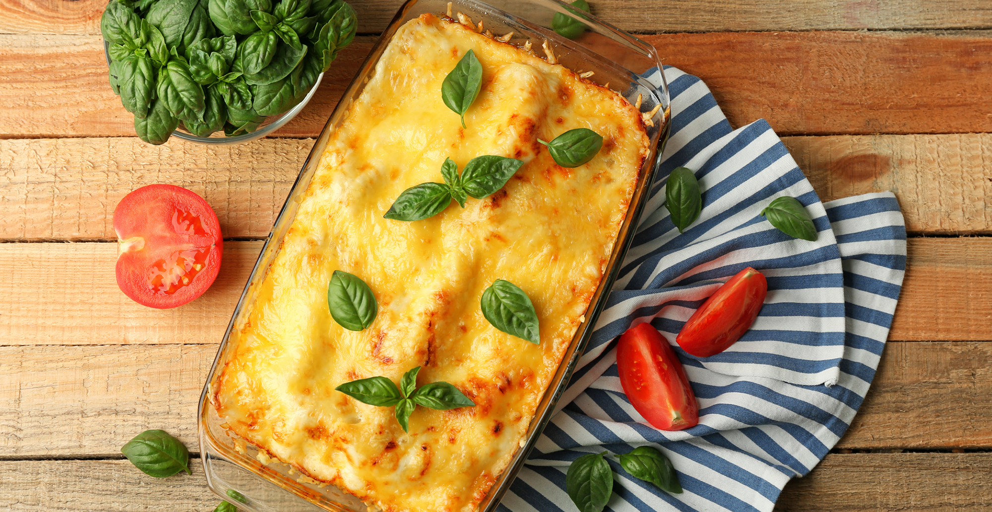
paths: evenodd
<path fill-rule="evenodd" d="M 785 137 L 822 200 L 895 192 L 913 233 L 992 233 L 992 134 Z"/>

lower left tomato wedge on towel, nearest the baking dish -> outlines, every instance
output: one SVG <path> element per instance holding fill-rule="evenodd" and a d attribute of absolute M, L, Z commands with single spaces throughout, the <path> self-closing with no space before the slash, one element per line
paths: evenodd
<path fill-rule="evenodd" d="M 631 405 L 656 429 L 681 431 L 699 423 L 699 404 L 682 362 L 651 323 L 620 336 L 617 370 Z"/>

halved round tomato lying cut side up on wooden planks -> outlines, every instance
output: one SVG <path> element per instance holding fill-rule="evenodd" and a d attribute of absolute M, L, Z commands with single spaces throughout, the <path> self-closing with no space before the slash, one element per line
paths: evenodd
<path fill-rule="evenodd" d="M 220 270 L 223 240 L 210 205 L 175 185 L 150 185 L 114 208 L 117 286 L 134 302 L 165 310 L 202 295 Z"/>

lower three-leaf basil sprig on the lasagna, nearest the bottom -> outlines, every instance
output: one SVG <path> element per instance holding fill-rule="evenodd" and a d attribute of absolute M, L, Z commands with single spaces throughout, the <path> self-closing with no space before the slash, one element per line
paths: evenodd
<path fill-rule="evenodd" d="M 386 377 L 369 377 L 345 382 L 334 388 L 359 402 L 377 406 L 396 406 L 394 415 L 403 432 L 410 432 L 410 415 L 417 406 L 446 411 L 459 407 L 475 407 L 475 402 L 447 382 L 432 382 L 417 388 L 418 366 L 403 374 L 400 386 Z"/>

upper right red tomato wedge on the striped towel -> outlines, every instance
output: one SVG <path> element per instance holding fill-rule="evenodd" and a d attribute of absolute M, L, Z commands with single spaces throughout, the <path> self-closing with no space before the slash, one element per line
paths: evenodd
<path fill-rule="evenodd" d="M 738 272 L 689 317 L 676 342 L 696 357 L 726 350 L 751 328 L 767 294 L 764 274 L 751 267 Z"/>

